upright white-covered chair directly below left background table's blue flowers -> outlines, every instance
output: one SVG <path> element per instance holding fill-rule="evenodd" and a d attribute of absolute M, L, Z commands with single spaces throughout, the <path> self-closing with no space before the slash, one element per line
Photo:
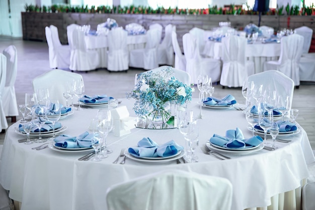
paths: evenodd
<path fill-rule="evenodd" d="M 110 71 L 128 70 L 129 51 L 127 48 L 128 32 L 123 28 L 113 28 L 108 33 L 107 69 Z"/>

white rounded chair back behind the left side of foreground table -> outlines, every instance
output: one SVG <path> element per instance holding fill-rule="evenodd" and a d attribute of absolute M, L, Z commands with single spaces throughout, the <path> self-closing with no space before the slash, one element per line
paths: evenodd
<path fill-rule="evenodd" d="M 39 88 L 47 88 L 51 99 L 59 100 L 59 103 L 66 106 L 63 93 L 67 92 L 68 85 L 72 84 L 74 79 L 83 79 L 81 74 L 54 69 L 45 72 L 32 80 L 33 91 Z M 77 97 L 73 97 L 73 101 L 77 101 Z"/>

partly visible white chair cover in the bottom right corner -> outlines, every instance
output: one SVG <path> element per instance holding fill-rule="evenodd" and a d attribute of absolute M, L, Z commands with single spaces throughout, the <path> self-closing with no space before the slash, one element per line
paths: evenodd
<path fill-rule="evenodd" d="M 302 187 L 302 210 L 315 209 L 315 182 L 308 182 Z"/>

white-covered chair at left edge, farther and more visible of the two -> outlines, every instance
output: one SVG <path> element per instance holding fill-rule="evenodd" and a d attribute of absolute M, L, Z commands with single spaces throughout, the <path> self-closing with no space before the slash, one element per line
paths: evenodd
<path fill-rule="evenodd" d="M 15 81 L 18 70 L 18 53 L 14 45 L 4 49 L 3 54 L 7 57 L 7 76 L 6 85 L 3 89 L 2 97 L 3 108 L 6 117 L 11 117 L 11 122 L 16 122 L 16 116 L 19 116 L 17 97 L 15 94 Z"/>

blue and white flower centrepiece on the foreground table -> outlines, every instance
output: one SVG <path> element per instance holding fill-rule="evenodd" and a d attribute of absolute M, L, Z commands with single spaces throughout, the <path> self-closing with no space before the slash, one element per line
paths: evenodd
<path fill-rule="evenodd" d="M 154 117 L 161 113 L 165 123 L 171 117 L 166 107 L 169 102 L 183 105 L 191 100 L 192 88 L 177 80 L 173 73 L 172 67 L 168 66 L 159 72 L 148 71 L 137 75 L 137 84 L 126 93 L 127 98 L 136 100 L 133 107 L 136 115 L 154 121 Z"/>

